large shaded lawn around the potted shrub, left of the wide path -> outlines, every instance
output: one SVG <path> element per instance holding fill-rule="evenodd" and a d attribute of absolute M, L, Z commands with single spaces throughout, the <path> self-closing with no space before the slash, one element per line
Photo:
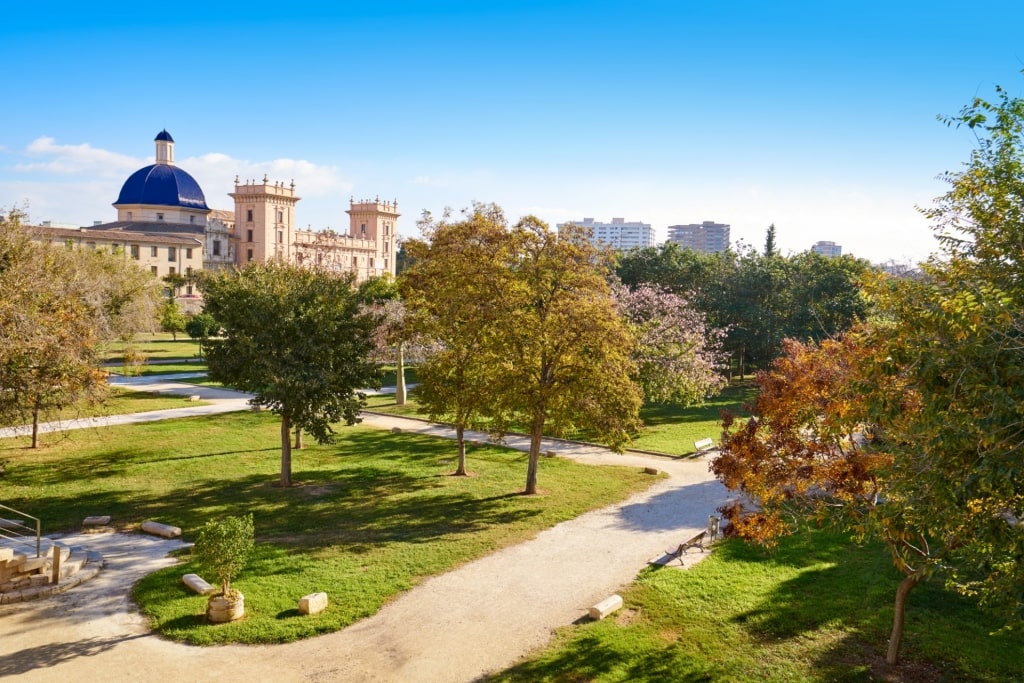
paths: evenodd
<path fill-rule="evenodd" d="M 252 512 L 257 549 L 232 582 L 246 595 L 246 618 L 205 625 L 206 598 L 181 584 L 196 570 L 189 563 L 145 578 L 134 597 L 166 637 L 258 643 L 341 629 L 427 577 L 651 482 L 635 468 L 545 459 L 542 494 L 525 497 L 525 454 L 470 447 L 472 476 L 454 477 L 453 441 L 356 426 L 341 428 L 333 445 L 295 452 L 300 485 L 280 488 L 279 438 L 274 416 L 237 413 L 69 432 L 39 451 L 4 439 L 0 500 L 42 518 L 46 532 L 109 514 L 125 529 L 171 523 L 186 540 L 212 517 Z M 298 599 L 315 591 L 331 606 L 300 616 Z"/>

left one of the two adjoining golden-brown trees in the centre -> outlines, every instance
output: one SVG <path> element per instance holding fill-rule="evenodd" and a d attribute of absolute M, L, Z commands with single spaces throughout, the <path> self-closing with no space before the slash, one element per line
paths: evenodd
<path fill-rule="evenodd" d="M 422 240 L 407 240 L 411 265 L 401 288 L 412 316 L 410 328 L 436 340 L 437 350 L 418 369 L 417 397 L 432 420 L 456 430 L 459 464 L 465 475 L 466 429 L 481 423 L 493 398 L 497 360 L 488 346 L 500 308 L 495 296 L 510 285 L 509 234 L 501 209 L 477 204 L 464 220 L 445 214 L 420 221 Z"/>

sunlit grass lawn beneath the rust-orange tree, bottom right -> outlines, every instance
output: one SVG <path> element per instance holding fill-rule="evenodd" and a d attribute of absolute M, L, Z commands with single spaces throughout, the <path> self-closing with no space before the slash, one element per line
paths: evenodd
<path fill-rule="evenodd" d="M 885 666 L 900 575 L 879 545 L 823 531 L 767 555 L 720 542 L 689 570 L 645 569 L 602 621 L 566 627 L 492 681 L 1021 681 L 1024 639 L 933 582 L 909 598 L 903 657 Z"/>

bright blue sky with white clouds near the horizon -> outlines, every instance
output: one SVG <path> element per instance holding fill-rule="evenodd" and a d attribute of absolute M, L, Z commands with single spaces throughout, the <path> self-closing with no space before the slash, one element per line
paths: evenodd
<path fill-rule="evenodd" d="M 0 26 L 0 207 L 33 222 L 113 220 L 166 128 L 210 206 L 294 178 L 302 226 L 481 201 L 919 260 L 973 145 L 937 116 L 1024 91 L 1019 1 L 35 4 Z"/>

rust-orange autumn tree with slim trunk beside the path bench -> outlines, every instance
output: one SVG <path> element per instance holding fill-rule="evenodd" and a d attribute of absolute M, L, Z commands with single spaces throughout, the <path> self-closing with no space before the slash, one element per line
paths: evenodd
<path fill-rule="evenodd" d="M 771 546 L 816 521 L 886 544 L 904 573 L 887 656 L 894 664 L 907 594 L 952 547 L 930 538 L 928 525 L 901 504 L 908 471 L 894 468 L 885 433 L 868 417 L 884 401 L 918 410 L 904 376 L 874 372 L 878 332 L 862 326 L 820 345 L 783 342 L 783 355 L 758 374 L 753 417 L 743 423 L 726 417 L 712 470 L 745 497 L 725 510 L 743 538 Z"/>

